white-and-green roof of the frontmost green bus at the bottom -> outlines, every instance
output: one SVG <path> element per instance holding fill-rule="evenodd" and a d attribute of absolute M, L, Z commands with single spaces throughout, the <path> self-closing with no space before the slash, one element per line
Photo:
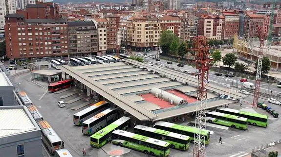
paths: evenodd
<path fill-rule="evenodd" d="M 123 130 L 115 130 L 112 133 L 122 135 L 122 136 L 125 136 L 125 137 L 128 137 L 128 138 L 133 138 L 133 139 L 136 139 L 136 140 L 146 141 L 148 143 L 159 145 L 159 146 L 162 146 L 162 147 L 167 147 L 170 144 L 169 142 L 165 142 L 163 140 L 157 140 L 157 139 L 149 138 L 149 137 L 146 137 L 146 136 L 134 134 L 134 133 L 131 133 L 131 132 L 128 132 L 128 131 L 123 131 Z"/>

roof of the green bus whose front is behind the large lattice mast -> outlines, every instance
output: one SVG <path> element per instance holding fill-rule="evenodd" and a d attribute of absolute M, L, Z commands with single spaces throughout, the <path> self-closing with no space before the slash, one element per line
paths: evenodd
<path fill-rule="evenodd" d="M 178 124 L 174 124 L 174 123 L 171 123 L 171 122 L 158 121 L 158 122 L 155 122 L 155 125 L 170 127 L 170 128 L 174 128 L 174 129 L 178 129 L 178 130 L 182 130 L 182 131 L 192 132 L 192 133 L 198 133 L 199 132 L 198 128 L 195 128 L 195 127 L 192 127 L 192 126 L 178 125 Z M 208 130 L 202 130 L 202 134 L 208 135 L 208 134 L 210 134 L 210 132 Z"/>

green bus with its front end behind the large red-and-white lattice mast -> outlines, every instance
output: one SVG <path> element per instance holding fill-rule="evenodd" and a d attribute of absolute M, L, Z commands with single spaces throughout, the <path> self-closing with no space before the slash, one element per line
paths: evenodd
<path fill-rule="evenodd" d="M 174 124 L 171 122 L 163 122 L 163 121 L 155 122 L 153 127 L 157 128 L 157 129 L 189 136 L 190 142 L 192 142 L 192 143 L 194 143 L 195 134 L 199 133 L 199 131 L 200 131 L 200 129 L 192 127 L 192 126 L 178 125 L 178 124 Z M 204 138 L 205 144 L 209 144 L 210 143 L 210 132 L 208 130 L 202 130 L 201 135 L 203 135 L 205 137 Z"/>

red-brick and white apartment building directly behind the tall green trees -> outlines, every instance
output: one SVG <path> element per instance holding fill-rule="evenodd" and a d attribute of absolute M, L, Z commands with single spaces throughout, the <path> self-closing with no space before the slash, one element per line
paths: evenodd
<path fill-rule="evenodd" d="M 180 36 L 181 19 L 178 16 L 163 15 L 158 17 L 160 23 L 160 34 L 162 31 L 170 30 L 176 36 Z"/>

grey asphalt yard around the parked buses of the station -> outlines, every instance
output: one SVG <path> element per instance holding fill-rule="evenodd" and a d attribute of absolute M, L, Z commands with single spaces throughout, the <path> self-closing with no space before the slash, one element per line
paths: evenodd
<path fill-rule="evenodd" d="M 78 110 L 73 110 L 71 108 L 84 104 L 87 101 L 91 101 L 90 99 L 85 99 L 86 93 L 81 92 L 80 88 L 72 87 L 72 89 L 59 94 L 49 93 L 46 88 L 46 83 L 38 82 L 38 84 L 31 81 L 30 73 L 17 76 L 15 82 L 19 83 L 18 86 L 28 94 L 34 105 L 36 105 L 40 113 L 43 115 L 44 119 L 50 123 L 62 140 L 65 141 L 65 149 L 68 149 L 74 157 L 81 156 L 83 148 L 86 149 L 86 156 L 88 157 L 108 157 L 108 154 L 118 155 L 118 152 L 121 152 L 120 154 L 126 153 L 123 155 L 124 157 L 147 156 L 144 153 L 124 149 L 119 146 L 112 146 L 111 144 L 105 145 L 102 149 L 90 147 L 89 136 L 83 135 L 81 127 L 73 124 L 73 114 L 86 108 L 88 105 Z M 71 93 L 74 94 L 70 95 Z M 64 98 L 67 95 L 70 96 Z M 78 97 L 81 99 L 79 98 L 78 100 Z M 76 98 L 77 101 L 71 103 L 71 100 Z M 246 100 L 247 99 L 250 100 L 252 97 L 248 97 Z M 71 104 L 65 104 L 66 106 L 64 108 L 60 108 L 57 105 L 57 102 L 62 100 L 65 102 L 70 101 Z M 281 106 L 274 104 L 268 105 L 273 106 L 275 110 L 281 113 Z M 229 105 L 229 107 L 234 109 L 241 108 L 238 104 L 232 104 Z M 253 111 L 251 106 L 247 104 L 243 104 L 242 108 Z M 260 108 L 255 109 L 255 111 L 269 115 Z M 182 124 L 187 125 L 188 122 L 183 122 Z M 214 131 L 214 134 L 211 135 L 210 144 L 206 146 L 206 157 L 243 157 L 250 155 L 253 148 L 281 139 L 280 125 L 281 122 L 279 121 L 279 118 L 276 119 L 269 115 L 269 124 L 267 128 L 248 125 L 248 129 L 243 131 L 233 128 L 223 130 L 207 127 L 208 130 Z M 129 131 L 132 131 L 132 128 L 130 128 Z M 222 144 L 218 143 L 219 137 L 222 137 Z M 185 152 L 171 150 L 170 157 L 192 157 L 192 152 L 193 145 L 191 144 L 191 147 Z"/>

